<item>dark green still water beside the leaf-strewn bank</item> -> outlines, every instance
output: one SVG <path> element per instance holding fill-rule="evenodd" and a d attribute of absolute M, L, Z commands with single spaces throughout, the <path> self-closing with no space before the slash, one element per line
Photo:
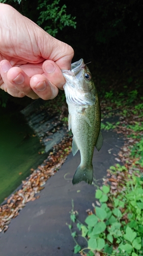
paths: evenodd
<path fill-rule="evenodd" d="M 0 203 L 44 160 L 42 145 L 20 113 L 0 110 Z M 22 174 L 21 174 L 22 173 Z"/>

